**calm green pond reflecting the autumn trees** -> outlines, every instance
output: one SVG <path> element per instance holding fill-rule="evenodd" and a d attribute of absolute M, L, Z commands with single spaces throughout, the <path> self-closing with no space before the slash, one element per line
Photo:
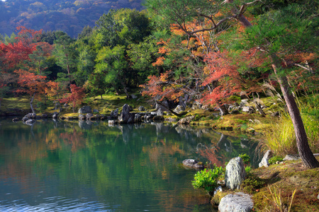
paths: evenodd
<path fill-rule="evenodd" d="M 0 120 L 0 211 L 214 211 L 187 158 L 224 165 L 256 144 L 151 123 Z"/>

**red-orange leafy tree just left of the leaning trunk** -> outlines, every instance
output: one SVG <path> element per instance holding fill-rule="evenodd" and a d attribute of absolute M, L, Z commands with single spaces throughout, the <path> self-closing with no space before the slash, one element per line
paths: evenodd
<path fill-rule="evenodd" d="M 206 77 L 203 80 L 203 86 L 206 90 L 203 93 L 203 102 L 212 105 L 218 105 L 222 114 L 227 114 L 225 108 L 221 107 L 222 102 L 226 103 L 230 96 L 245 91 L 248 95 L 252 92 L 261 92 L 262 86 L 259 81 L 267 77 L 267 74 L 255 76 L 254 72 L 250 72 L 264 59 L 255 59 L 254 54 L 257 49 L 250 49 L 242 52 L 234 59 L 230 57 L 230 52 L 210 52 L 206 55 Z M 241 62 L 245 61 L 245 62 Z M 240 69 L 242 69 L 240 71 Z"/>

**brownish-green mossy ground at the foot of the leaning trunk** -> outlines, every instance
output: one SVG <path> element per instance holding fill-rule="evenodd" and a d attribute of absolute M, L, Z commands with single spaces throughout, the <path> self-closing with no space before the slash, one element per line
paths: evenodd
<path fill-rule="evenodd" d="M 317 160 L 319 157 L 317 157 Z M 255 211 L 274 209 L 274 189 L 278 196 L 280 190 L 282 205 L 286 208 L 291 203 L 291 196 L 296 189 L 291 204 L 291 211 L 319 211 L 319 168 L 306 169 L 301 160 L 286 161 L 282 165 L 270 165 L 267 168 L 252 170 L 252 175 L 259 177 L 265 184 L 254 193 Z M 274 180 L 276 179 L 276 180 Z M 269 192 L 269 187 L 272 192 Z M 245 187 L 244 187 L 245 189 Z M 270 207 L 270 208 L 269 208 Z"/>

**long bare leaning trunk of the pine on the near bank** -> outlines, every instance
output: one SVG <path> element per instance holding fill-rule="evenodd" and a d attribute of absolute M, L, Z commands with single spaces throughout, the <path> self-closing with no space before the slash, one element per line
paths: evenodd
<path fill-rule="evenodd" d="M 315 156 L 310 150 L 305 126 L 303 126 L 303 120 L 301 119 L 301 114 L 296 101 L 293 98 L 288 80 L 286 76 L 278 76 L 278 69 L 280 67 L 279 58 L 276 56 L 276 54 L 272 54 L 271 57 L 273 62 L 272 68 L 274 69 L 274 73 L 278 77 L 281 92 L 284 95 L 289 115 L 291 117 L 291 121 L 293 122 L 293 129 L 295 130 L 296 134 L 297 148 L 301 160 L 303 160 L 303 165 L 308 168 L 319 167 L 318 160 L 315 159 Z"/>

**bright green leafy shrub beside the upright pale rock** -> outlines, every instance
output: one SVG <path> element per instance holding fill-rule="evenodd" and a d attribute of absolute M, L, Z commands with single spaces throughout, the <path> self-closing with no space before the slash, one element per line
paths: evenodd
<path fill-rule="evenodd" d="M 211 195 L 217 187 L 218 179 L 223 172 L 225 172 L 223 167 L 215 167 L 213 170 L 204 169 L 198 171 L 191 184 L 195 189 L 203 189 Z"/>

